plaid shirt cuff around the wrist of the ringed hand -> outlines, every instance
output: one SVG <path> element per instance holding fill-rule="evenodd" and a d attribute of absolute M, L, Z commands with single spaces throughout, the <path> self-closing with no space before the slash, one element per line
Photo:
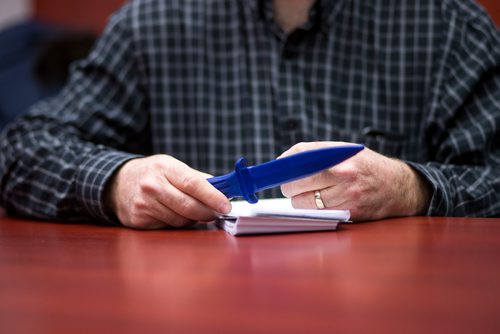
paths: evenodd
<path fill-rule="evenodd" d="M 445 175 L 441 170 L 431 164 L 419 164 L 405 161 L 409 166 L 419 172 L 432 186 L 433 194 L 430 201 L 428 216 L 450 216 L 453 212 L 450 189 Z"/>

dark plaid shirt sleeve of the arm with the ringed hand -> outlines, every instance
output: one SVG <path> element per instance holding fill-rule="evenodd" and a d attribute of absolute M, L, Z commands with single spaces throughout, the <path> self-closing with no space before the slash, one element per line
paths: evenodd
<path fill-rule="evenodd" d="M 425 125 L 431 159 L 408 163 L 434 188 L 429 215 L 499 216 L 500 37 L 478 7 L 449 3 Z"/>

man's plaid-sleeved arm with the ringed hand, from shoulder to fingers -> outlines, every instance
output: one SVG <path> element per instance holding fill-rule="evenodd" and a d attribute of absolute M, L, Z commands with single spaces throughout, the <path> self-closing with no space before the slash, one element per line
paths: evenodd
<path fill-rule="evenodd" d="M 284 185 L 294 205 L 315 207 L 314 191 L 321 190 L 327 207 L 351 209 L 355 220 L 500 215 L 499 33 L 476 4 L 445 1 L 442 9 L 442 58 L 428 110 L 422 111 L 428 161 L 401 162 L 364 151 L 316 177 Z"/>

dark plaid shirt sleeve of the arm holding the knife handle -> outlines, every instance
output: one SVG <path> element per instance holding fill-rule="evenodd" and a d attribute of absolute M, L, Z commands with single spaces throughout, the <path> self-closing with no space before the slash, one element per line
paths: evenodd
<path fill-rule="evenodd" d="M 127 6 L 118 11 L 61 94 L 2 133 L 0 195 L 8 211 L 115 222 L 104 207 L 106 184 L 139 156 L 125 152 L 148 124 L 132 17 Z"/>

